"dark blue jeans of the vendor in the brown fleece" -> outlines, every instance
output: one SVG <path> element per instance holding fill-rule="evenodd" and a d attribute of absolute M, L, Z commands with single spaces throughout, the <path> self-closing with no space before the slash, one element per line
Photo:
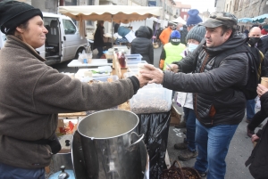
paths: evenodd
<path fill-rule="evenodd" d="M 45 168 L 25 169 L 0 163 L 0 179 L 45 179 Z"/>

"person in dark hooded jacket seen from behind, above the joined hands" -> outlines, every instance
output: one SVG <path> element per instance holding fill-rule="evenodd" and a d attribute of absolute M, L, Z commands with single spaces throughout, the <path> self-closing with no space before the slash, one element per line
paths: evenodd
<path fill-rule="evenodd" d="M 153 30 L 141 26 L 135 32 L 136 38 L 131 42 L 131 54 L 139 53 L 143 61 L 154 64 L 154 47 L 152 44 Z"/>

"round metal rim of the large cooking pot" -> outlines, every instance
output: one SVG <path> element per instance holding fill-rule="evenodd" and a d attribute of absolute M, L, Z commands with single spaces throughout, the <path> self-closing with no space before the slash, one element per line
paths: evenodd
<path fill-rule="evenodd" d="M 119 109 L 113 109 L 113 110 L 119 110 Z M 85 118 L 88 118 L 88 117 L 91 116 L 91 115 L 94 115 L 94 114 L 96 114 L 96 113 L 100 113 L 100 112 L 103 112 L 103 111 L 108 111 L 108 110 L 99 110 L 99 111 L 97 111 L 97 112 L 94 112 L 94 113 L 92 113 L 92 114 L 89 114 L 89 115 L 88 115 L 87 117 L 85 117 Z M 80 132 L 80 127 L 79 127 L 80 124 L 79 124 L 79 126 L 77 127 L 77 131 L 79 132 L 80 135 L 82 135 L 82 136 L 84 136 L 84 137 L 86 137 L 86 138 L 88 138 L 88 139 L 91 139 L 91 140 L 114 139 L 114 138 L 120 137 L 120 136 L 122 136 L 122 135 L 124 135 L 124 134 L 129 134 L 129 133 L 131 133 L 131 132 L 138 126 L 139 118 L 138 118 L 137 114 L 135 114 L 134 112 L 132 112 L 132 111 L 130 111 L 130 110 L 121 110 L 121 111 L 127 111 L 127 112 L 130 112 L 130 113 L 132 113 L 133 115 L 135 115 L 136 118 L 137 118 L 137 124 L 136 124 L 134 127 L 132 127 L 129 131 L 127 131 L 126 133 L 119 134 L 119 135 L 114 135 L 114 136 L 111 136 L 111 137 L 105 137 L 105 138 L 90 137 L 90 136 L 85 135 L 85 134 L 82 134 L 82 133 Z M 82 120 L 84 120 L 85 118 L 82 118 L 81 121 L 80 121 L 80 123 L 81 123 Z"/>

